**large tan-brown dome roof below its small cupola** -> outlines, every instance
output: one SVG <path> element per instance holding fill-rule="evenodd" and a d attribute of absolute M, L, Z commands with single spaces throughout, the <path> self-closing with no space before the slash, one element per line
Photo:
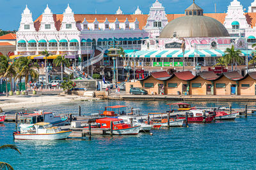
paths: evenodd
<path fill-rule="evenodd" d="M 184 16 L 169 22 L 159 38 L 228 37 L 228 31 L 218 20 L 205 16 Z"/>

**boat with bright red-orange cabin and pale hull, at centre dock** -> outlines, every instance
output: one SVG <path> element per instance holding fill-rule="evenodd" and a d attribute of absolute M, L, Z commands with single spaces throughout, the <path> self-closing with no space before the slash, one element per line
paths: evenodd
<path fill-rule="evenodd" d="M 120 118 L 100 118 L 96 120 L 96 123 L 99 126 L 93 127 L 100 127 L 102 129 L 110 129 L 111 123 L 113 124 L 113 134 L 122 135 L 122 134 L 138 134 L 140 131 L 140 125 L 131 127 L 129 124 L 125 124 L 124 120 Z M 92 127 L 92 128 L 93 128 Z M 85 127 L 88 128 L 88 127 Z M 110 131 L 107 132 L 110 134 Z"/>

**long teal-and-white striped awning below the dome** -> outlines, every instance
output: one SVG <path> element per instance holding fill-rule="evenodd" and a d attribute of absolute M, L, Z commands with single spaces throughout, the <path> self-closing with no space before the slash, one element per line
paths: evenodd
<path fill-rule="evenodd" d="M 184 57 L 222 57 L 225 50 L 185 50 Z M 140 50 L 127 53 L 129 57 L 183 57 L 182 50 Z"/>

